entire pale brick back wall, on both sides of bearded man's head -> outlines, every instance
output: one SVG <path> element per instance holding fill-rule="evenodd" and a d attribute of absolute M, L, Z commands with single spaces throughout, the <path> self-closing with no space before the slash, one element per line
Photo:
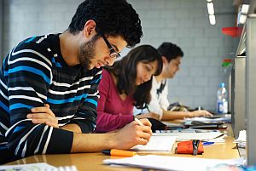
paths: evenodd
<path fill-rule="evenodd" d="M 4 0 L 4 53 L 32 35 L 61 32 L 81 0 Z M 224 58 L 235 51 L 236 39 L 221 33 L 236 23 L 233 0 L 214 0 L 216 26 L 210 26 L 206 0 L 128 0 L 140 14 L 142 43 L 157 48 L 162 42 L 183 48 L 181 71 L 169 82 L 169 100 L 215 109 L 218 83 L 227 78 L 221 68 Z M 125 49 L 125 53 L 128 50 Z M 123 53 L 123 54 L 125 54 Z"/>

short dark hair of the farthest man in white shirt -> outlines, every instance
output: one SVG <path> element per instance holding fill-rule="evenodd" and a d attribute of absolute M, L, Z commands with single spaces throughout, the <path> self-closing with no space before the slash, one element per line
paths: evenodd
<path fill-rule="evenodd" d="M 162 56 L 165 56 L 168 62 L 177 59 L 177 57 L 183 57 L 183 50 L 179 48 L 174 43 L 162 43 L 159 48 L 157 48 Z"/>

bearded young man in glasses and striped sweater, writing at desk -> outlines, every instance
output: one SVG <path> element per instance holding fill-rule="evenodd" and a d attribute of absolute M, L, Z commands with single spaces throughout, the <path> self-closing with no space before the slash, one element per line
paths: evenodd
<path fill-rule="evenodd" d="M 0 71 L 0 163 L 34 154 L 130 149 L 152 134 L 148 120 L 109 134 L 96 128 L 102 66 L 143 35 L 125 0 L 85 0 L 60 34 L 30 37 Z M 129 135 L 129 136 L 128 136 Z"/>

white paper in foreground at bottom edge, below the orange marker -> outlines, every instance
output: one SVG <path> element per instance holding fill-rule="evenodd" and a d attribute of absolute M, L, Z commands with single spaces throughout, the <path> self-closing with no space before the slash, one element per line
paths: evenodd
<path fill-rule="evenodd" d="M 167 156 L 135 156 L 121 159 L 106 159 L 105 164 L 125 165 L 138 168 L 153 168 L 160 170 L 189 170 L 189 171 L 206 171 L 218 164 L 243 165 L 243 158 L 236 159 L 207 159 L 195 157 L 167 157 Z"/>

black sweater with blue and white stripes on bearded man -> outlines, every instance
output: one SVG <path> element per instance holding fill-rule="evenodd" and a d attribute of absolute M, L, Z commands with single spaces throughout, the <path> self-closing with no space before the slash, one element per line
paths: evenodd
<path fill-rule="evenodd" d="M 20 158 L 70 152 L 73 132 L 61 127 L 76 123 L 83 133 L 94 131 L 101 78 L 102 69 L 67 66 L 59 35 L 31 37 L 19 43 L 0 71 L 0 153 L 8 150 Z M 44 104 L 49 104 L 60 128 L 26 118 L 33 107 Z"/>

